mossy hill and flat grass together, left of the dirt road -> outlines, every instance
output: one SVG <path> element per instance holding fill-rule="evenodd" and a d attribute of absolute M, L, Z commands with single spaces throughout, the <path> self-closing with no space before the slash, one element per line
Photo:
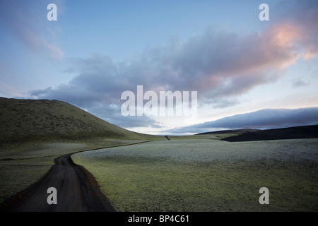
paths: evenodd
<path fill-rule="evenodd" d="M 54 158 L 164 136 L 134 133 L 57 100 L 0 97 L 0 202 L 37 182 Z"/>

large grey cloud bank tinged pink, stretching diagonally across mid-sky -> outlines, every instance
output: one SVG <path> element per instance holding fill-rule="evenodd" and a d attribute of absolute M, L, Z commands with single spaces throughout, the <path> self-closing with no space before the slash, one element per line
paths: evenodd
<path fill-rule="evenodd" d="M 126 120 L 119 115 L 122 92 L 136 93 L 137 85 L 143 85 L 144 91 L 157 93 L 160 90 L 198 91 L 199 105 L 235 105 L 240 95 L 275 82 L 301 54 L 315 56 L 317 10 L 312 9 L 312 4 L 312 1 L 289 4 L 291 7 L 283 13 L 285 17 L 263 32 L 239 35 L 210 26 L 203 34 L 153 47 L 117 64 L 104 54 L 70 59 L 66 71 L 77 76 L 67 84 L 33 90 L 30 95 L 64 100 L 88 110 L 96 106 L 100 109 L 116 106 L 117 115 L 112 116 L 118 121 Z M 295 11 L 297 16 L 290 14 Z M 147 120 L 141 122 L 143 126 L 148 126 L 147 123 Z M 155 121 L 150 123 L 156 125 Z"/>

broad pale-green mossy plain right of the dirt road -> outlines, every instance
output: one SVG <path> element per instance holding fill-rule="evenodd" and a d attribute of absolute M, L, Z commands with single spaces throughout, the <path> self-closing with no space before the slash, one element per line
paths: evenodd
<path fill-rule="evenodd" d="M 72 155 L 117 211 L 317 211 L 318 139 L 155 141 Z M 269 205 L 259 189 L 269 189 Z"/>

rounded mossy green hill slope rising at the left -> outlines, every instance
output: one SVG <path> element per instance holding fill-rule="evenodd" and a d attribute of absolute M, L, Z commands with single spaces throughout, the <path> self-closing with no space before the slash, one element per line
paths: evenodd
<path fill-rule="evenodd" d="M 83 109 L 57 100 L 0 98 L 0 142 L 87 138 L 153 139 L 108 123 Z M 163 139 L 165 139 L 163 137 Z"/>

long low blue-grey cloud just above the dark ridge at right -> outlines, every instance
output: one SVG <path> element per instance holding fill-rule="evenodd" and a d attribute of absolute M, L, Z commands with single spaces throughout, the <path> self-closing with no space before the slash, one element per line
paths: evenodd
<path fill-rule="evenodd" d="M 169 133 L 204 133 L 223 129 L 275 129 L 318 124 L 318 107 L 300 109 L 261 109 L 236 114 L 194 126 L 170 129 Z"/>

